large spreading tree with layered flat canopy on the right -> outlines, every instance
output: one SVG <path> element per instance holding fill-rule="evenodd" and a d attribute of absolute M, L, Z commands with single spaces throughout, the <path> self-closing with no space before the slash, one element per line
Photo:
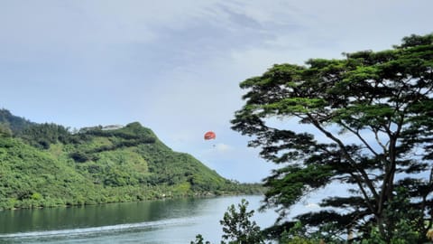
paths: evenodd
<path fill-rule="evenodd" d="M 298 219 L 361 238 L 377 230 L 389 243 L 397 226 L 389 211 L 399 211 L 421 241 L 433 221 L 433 34 L 344 55 L 274 65 L 240 84 L 245 104 L 232 128 L 281 165 L 263 180 L 263 208 L 277 207 L 281 221 L 307 193 L 343 183 L 345 195 L 321 202 L 333 211 Z M 396 202 L 403 201 L 397 189 L 410 201 Z"/>

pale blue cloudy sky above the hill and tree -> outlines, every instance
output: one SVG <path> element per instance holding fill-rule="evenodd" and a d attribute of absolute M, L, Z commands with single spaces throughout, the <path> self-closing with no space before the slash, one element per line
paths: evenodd
<path fill-rule="evenodd" d="M 272 164 L 230 129 L 239 83 L 275 63 L 432 33 L 431 9 L 431 0 L 0 0 L 0 108 L 71 128 L 138 121 L 218 174 L 260 182 Z M 207 130 L 215 141 L 203 140 Z"/>

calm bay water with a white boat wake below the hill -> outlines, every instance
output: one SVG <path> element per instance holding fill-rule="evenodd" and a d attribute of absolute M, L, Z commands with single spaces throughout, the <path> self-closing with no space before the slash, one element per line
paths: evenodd
<path fill-rule="evenodd" d="M 219 243 L 231 204 L 249 202 L 262 228 L 276 219 L 256 211 L 262 196 L 114 203 L 77 208 L 0 211 L 0 243 L 187 243 L 202 234 Z"/>

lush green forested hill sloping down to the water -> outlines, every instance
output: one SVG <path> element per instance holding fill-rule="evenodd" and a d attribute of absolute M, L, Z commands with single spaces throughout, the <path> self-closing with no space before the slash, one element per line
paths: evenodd
<path fill-rule="evenodd" d="M 138 122 L 74 133 L 0 109 L 0 209 L 253 193 Z"/>

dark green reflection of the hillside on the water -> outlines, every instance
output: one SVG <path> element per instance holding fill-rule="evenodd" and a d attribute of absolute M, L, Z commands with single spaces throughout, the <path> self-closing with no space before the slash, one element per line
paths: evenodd
<path fill-rule="evenodd" d="M 195 215 L 206 200 L 180 199 L 0 212 L 0 233 L 63 230 Z"/>

